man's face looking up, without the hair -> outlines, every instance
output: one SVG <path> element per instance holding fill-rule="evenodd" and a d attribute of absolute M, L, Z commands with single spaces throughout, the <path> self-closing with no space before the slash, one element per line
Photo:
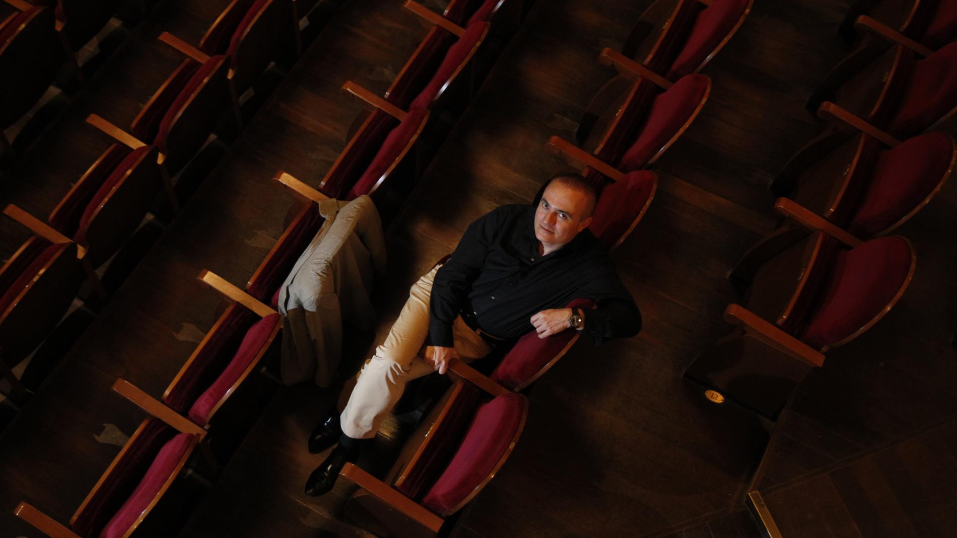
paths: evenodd
<path fill-rule="evenodd" d="M 587 194 L 562 183 L 545 189 L 535 210 L 535 237 L 546 246 L 564 245 L 591 224 Z"/>

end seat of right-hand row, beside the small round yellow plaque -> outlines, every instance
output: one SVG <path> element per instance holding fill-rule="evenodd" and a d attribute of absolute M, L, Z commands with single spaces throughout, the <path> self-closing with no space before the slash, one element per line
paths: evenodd
<path fill-rule="evenodd" d="M 739 328 L 699 355 L 685 376 L 774 418 L 824 353 L 870 329 L 901 298 L 915 256 L 900 236 L 850 247 L 821 232 L 753 247 L 735 274 L 749 282 Z M 751 258 L 751 259 L 747 259 Z"/>

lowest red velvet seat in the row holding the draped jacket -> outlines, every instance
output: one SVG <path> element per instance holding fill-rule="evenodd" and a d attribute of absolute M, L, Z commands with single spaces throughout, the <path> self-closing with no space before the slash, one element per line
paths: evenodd
<path fill-rule="evenodd" d="M 140 424 L 120 454 L 64 527 L 27 503 L 14 513 L 49 536 L 120 538 L 136 534 L 181 475 L 200 436 L 150 417 Z M 154 521 L 163 526 L 163 522 Z"/>

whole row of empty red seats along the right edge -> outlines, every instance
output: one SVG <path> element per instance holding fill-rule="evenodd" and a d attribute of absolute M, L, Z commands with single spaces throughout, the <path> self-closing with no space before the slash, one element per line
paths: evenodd
<path fill-rule="evenodd" d="M 931 202 L 957 162 L 948 134 L 957 114 L 957 1 L 904 4 L 853 11 L 861 43 L 809 102 L 828 122 L 771 184 L 786 220 L 731 271 L 746 287 L 742 305 L 724 312 L 738 328 L 686 372 L 768 418 L 828 350 L 901 298 L 916 257 L 905 238 L 888 234 Z M 906 34 L 867 12 L 905 19 L 898 28 Z"/>

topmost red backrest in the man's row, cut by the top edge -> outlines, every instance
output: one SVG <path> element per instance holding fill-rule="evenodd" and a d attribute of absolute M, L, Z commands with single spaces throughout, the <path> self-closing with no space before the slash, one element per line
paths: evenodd
<path fill-rule="evenodd" d="M 698 13 L 687 41 L 668 70 L 668 79 L 676 80 L 694 73 L 708 54 L 714 52 L 728 32 L 741 20 L 747 9 L 747 2 L 748 0 L 715 0 Z"/>

